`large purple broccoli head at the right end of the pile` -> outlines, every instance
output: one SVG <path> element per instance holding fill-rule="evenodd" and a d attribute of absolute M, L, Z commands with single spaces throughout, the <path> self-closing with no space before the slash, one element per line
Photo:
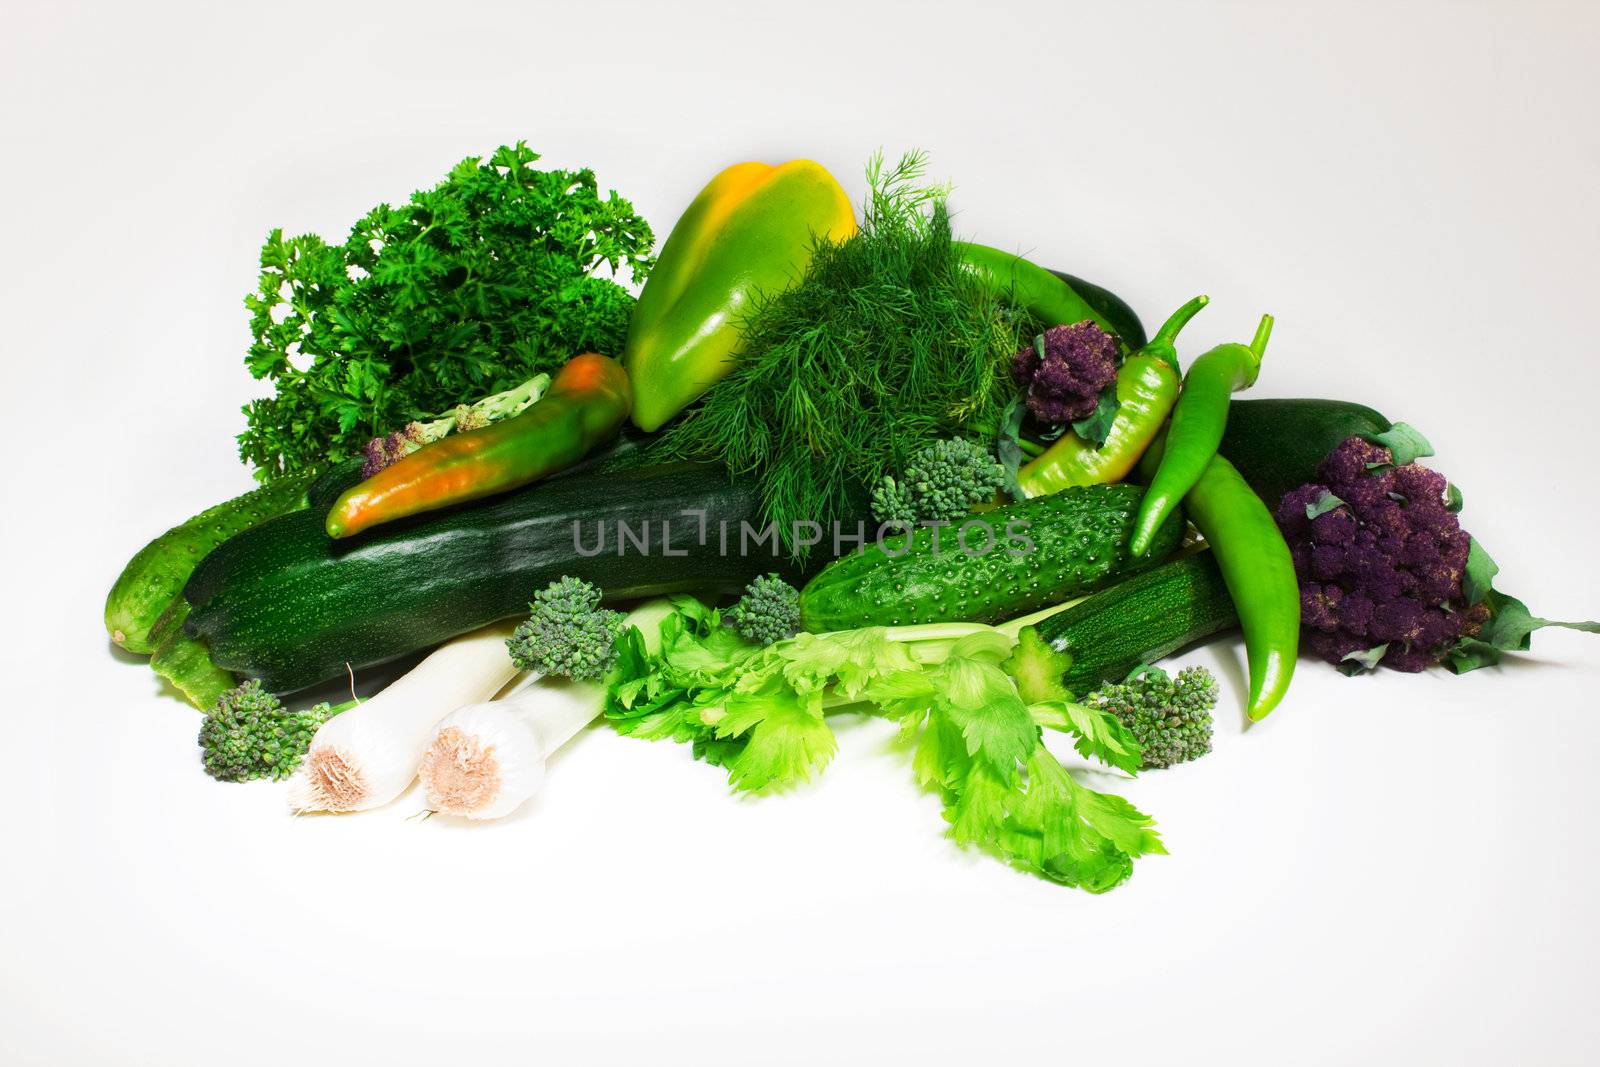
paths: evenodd
<path fill-rule="evenodd" d="M 1466 603 L 1462 592 L 1472 537 L 1446 506 L 1443 475 L 1395 467 L 1387 448 L 1352 437 L 1317 478 L 1277 510 L 1314 653 L 1344 664 L 1352 653 L 1387 646 L 1384 667 L 1416 672 L 1482 629 L 1488 609 Z"/>

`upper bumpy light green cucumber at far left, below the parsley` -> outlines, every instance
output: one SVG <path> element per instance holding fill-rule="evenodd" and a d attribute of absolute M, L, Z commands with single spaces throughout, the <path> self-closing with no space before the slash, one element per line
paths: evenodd
<path fill-rule="evenodd" d="M 200 560 L 234 534 L 306 507 L 310 483 L 309 475 L 278 478 L 208 507 L 139 549 L 106 595 L 106 632 L 110 640 L 130 653 L 154 653 L 150 629 L 182 592 Z"/>

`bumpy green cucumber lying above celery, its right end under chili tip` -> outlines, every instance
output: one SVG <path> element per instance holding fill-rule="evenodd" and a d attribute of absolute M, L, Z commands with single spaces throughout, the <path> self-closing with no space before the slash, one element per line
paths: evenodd
<path fill-rule="evenodd" d="M 1130 558 L 1128 537 L 1142 499 L 1142 486 L 1091 485 L 997 507 L 974 517 L 994 531 L 994 550 L 986 555 L 962 552 L 960 526 L 915 530 L 909 547 L 906 536 L 886 537 L 830 563 L 800 592 L 802 625 L 824 633 L 864 625 L 1000 622 L 1078 597 L 1154 566 L 1178 549 L 1182 520 L 1173 515 L 1150 552 Z M 1008 530 L 1026 533 L 1032 550 L 1008 541 Z M 966 544 L 976 553 L 987 537 L 973 530 Z"/>

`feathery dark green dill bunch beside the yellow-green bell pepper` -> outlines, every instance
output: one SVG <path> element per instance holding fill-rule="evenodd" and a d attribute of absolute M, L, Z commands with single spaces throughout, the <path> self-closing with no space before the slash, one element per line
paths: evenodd
<path fill-rule="evenodd" d="M 658 446 L 755 477 L 797 557 L 797 522 L 862 517 L 864 486 L 933 438 L 992 430 L 1014 392 L 1019 323 L 963 269 L 947 189 L 923 174 L 917 152 L 867 165 L 861 229 L 819 240 L 798 285 L 755 301 L 738 366 Z"/>

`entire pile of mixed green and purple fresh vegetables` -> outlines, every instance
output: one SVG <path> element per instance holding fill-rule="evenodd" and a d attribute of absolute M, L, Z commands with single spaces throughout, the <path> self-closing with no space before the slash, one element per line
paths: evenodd
<path fill-rule="evenodd" d="M 538 158 L 464 160 L 338 245 L 269 235 L 246 365 L 274 394 L 238 438 L 262 485 L 106 601 L 205 712 L 218 781 L 288 779 L 298 813 L 419 781 L 496 819 L 600 720 L 762 793 L 870 715 L 957 845 L 1101 893 L 1166 848 L 1083 765 L 1205 757 L 1224 697 L 1285 701 L 1302 638 L 1346 673 L 1466 672 L 1600 632 L 1493 587 L 1414 429 L 1235 400 L 1270 315 L 1179 358 L 1205 296 L 1146 336 L 957 240 L 920 155 L 869 163 L 859 219 L 813 162 L 730 166 L 659 262 L 626 200 Z M 1234 629 L 1243 693 L 1158 665 Z M 304 696 L 419 654 L 366 701 Z"/>

